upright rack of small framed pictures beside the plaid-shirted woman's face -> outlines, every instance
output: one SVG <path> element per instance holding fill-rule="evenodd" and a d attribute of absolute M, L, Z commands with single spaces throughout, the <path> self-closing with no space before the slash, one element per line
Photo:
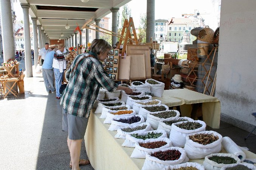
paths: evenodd
<path fill-rule="evenodd" d="M 118 78 L 118 61 L 119 49 L 111 49 L 107 57 L 106 72 L 109 73 L 108 77 L 114 80 Z"/>

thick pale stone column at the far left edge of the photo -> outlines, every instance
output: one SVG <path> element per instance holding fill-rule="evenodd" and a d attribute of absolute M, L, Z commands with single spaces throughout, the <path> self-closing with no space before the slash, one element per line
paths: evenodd
<path fill-rule="evenodd" d="M 2 25 L 3 61 L 7 61 L 8 59 L 15 58 L 11 1 L 0 0 L 0 12 Z M 2 55 L 2 53 L 0 53 L 0 55 Z"/>

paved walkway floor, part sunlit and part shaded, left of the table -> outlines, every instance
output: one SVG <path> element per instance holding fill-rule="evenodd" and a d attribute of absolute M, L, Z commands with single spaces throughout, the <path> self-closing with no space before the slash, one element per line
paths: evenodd
<path fill-rule="evenodd" d="M 0 98 L 0 169 L 68 170 L 68 134 L 62 131 L 62 108 L 56 93 L 46 92 L 42 74 L 33 75 L 25 77 L 25 94 L 18 99 Z M 84 141 L 81 158 L 88 158 Z M 91 165 L 80 168 L 93 169 Z"/>

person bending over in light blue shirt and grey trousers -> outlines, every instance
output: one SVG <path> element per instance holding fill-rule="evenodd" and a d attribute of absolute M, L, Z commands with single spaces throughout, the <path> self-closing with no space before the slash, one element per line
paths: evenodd
<path fill-rule="evenodd" d="M 52 68 L 53 56 L 54 53 L 58 49 L 54 49 L 51 52 L 47 53 L 45 56 L 45 61 L 42 65 L 42 74 L 43 74 L 43 81 L 45 82 L 45 88 L 47 93 L 55 93 L 56 89 L 54 87 L 54 71 Z"/>

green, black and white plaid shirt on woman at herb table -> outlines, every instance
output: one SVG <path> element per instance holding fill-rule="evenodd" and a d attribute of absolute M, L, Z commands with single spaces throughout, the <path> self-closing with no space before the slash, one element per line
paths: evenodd
<path fill-rule="evenodd" d="M 96 100 L 100 87 L 113 92 L 118 84 L 108 77 L 103 69 L 102 63 L 97 57 L 83 59 L 76 70 L 71 70 L 83 56 L 78 55 L 71 67 L 66 72 L 66 79 L 69 81 L 60 99 L 60 105 L 72 115 L 88 118 L 94 101 Z M 94 55 L 95 56 L 95 55 Z"/>

